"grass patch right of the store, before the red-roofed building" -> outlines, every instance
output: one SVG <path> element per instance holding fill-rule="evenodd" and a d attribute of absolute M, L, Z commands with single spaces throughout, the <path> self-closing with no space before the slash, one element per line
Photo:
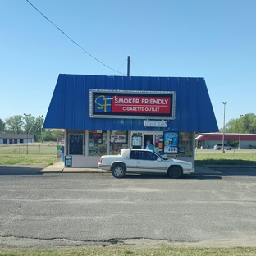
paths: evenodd
<path fill-rule="evenodd" d="M 198 153 L 194 161 L 199 166 L 240 165 L 249 167 L 256 166 L 256 153 Z"/>

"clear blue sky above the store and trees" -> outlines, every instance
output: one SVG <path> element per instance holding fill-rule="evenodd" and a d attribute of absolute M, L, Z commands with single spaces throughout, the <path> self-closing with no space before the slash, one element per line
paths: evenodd
<path fill-rule="evenodd" d="M 204 77 L 219 128 L 256 114 L 255 0 L 0 0 L 0 118 L 48 111 L 58 74 Z"/>

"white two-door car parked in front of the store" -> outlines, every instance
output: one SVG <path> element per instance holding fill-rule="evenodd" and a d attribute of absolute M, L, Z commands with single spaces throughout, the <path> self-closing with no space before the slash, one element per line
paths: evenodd
<path fill-rule="evenodd" d="M 191 162 L 167 159 L 149 149 L 121 149 L 118 155 L 102 156 L 98 168 L 112 171 L 115 178 L 123 178 L 126 172 L 167 173 L 174 179 L 195 170 Z"/>

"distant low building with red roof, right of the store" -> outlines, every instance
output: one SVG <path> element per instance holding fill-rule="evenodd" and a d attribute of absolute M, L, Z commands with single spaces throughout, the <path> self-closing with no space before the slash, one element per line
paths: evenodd
<path fill-rule="evenodd" d="M 206 148 L 210 146 L 213 148 L 215 144 L 222 144 L 223 134 L 218 133 L 200 133 L 195 138 L 195 145 L 197 148 Z M 240 149 L 256 149 L 256 135 L 255 134 L 224 134 L 224 144 L 229 144 L 229 141 L 235 140 L 239 143 Z"/>

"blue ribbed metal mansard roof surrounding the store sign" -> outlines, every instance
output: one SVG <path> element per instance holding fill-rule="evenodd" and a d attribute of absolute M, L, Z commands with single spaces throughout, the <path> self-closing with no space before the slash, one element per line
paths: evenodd
<path fill-rule="evenodd" d="M 144 127 L 144 119 L 89 117 L 89 90 L 176 92 L 176 118 L 167 127 Z M 149 117 L 153 120 L 153 117 Z M 157 119 L 157 118 L 156 118 Z M 215 132 L 216 117 L 203 78 L 60 74 L 43 128 L 74 130 L 172 130 Z"/>

